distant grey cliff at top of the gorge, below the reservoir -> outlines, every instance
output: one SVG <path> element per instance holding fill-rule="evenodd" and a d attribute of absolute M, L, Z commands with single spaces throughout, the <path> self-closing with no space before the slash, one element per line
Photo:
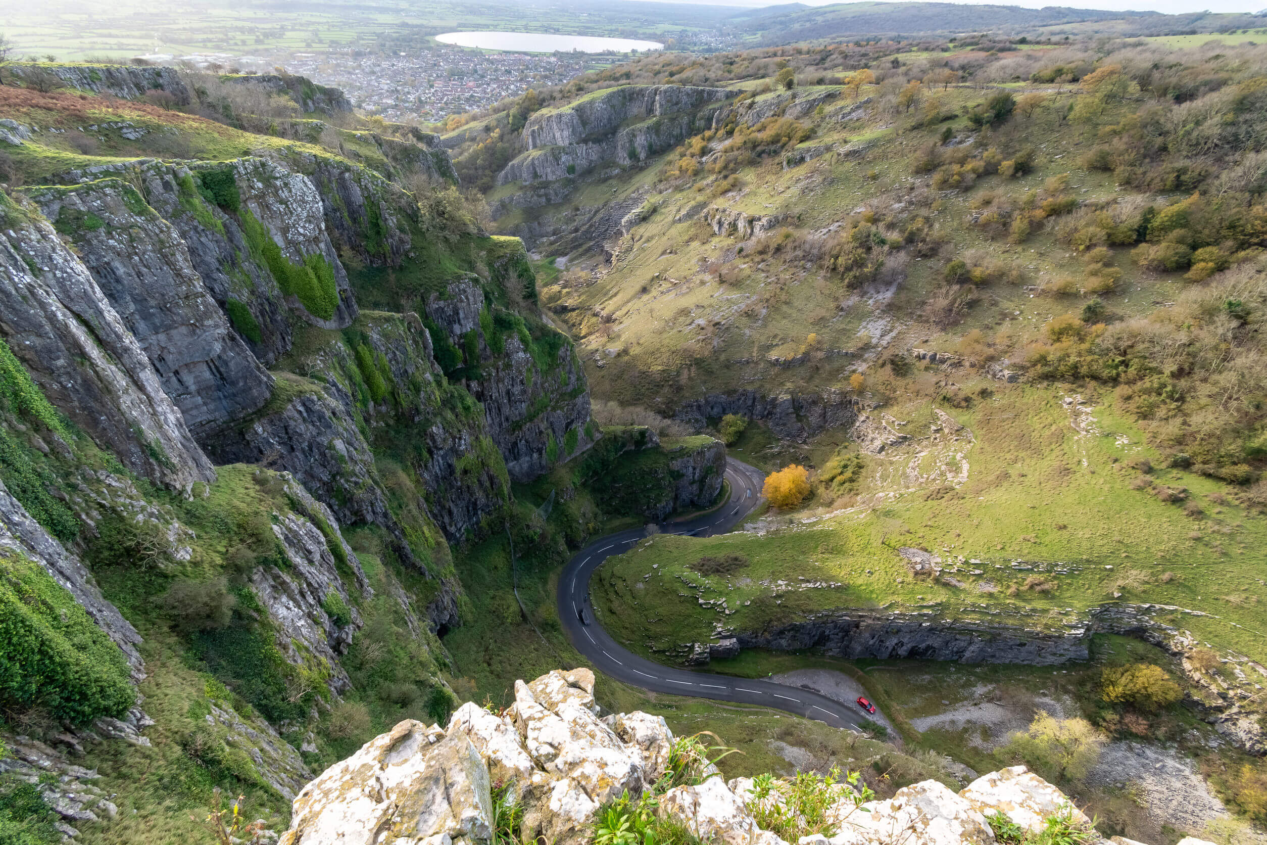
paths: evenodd
<path fill-rule="evenodd" d="M 544 109 L 523 127 L 526 152 L 497 184 L 557 181 L 611 162 L 625 167 L 680 143 L 713 104 L 732 91 L 685 85 L 622 85 L 559 109 Z M 706 114 L 707 113 L 707 114 Z"/>

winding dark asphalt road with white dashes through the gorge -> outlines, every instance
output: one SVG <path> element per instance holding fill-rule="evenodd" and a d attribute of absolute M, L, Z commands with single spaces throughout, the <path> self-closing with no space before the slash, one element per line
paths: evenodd
<path fill-rule="evenodd" d="M 660 530 L 664 533 L 702 537 L 726 533 L 739 524 L 760 500 L 765 476 L 760 470 L 727 457 L 726 479 L 730 481 L 730 499 L 725 505 L 687 522 L 663 523 Z M 863 718 L 858 704 L 844 704 L 807 689 L 768 680 L 672 669 L 631 654 L 617 645 L 594 619 L 594 608 L 589 600 L 589 576 L 609 555 L 623 554 L 645 537 L 645 530 L 631 528 L 595 540 L 568 561 L 559 578 L 559 619 L 571 644 L 589 658 L 594 666 L 617 680 L 658 693 L 761 704 L 818 720 L 832 727 L 862 730 L 856 723 L 856 720 Z M 580 619 L 582 609 L 585 622 Z"/>

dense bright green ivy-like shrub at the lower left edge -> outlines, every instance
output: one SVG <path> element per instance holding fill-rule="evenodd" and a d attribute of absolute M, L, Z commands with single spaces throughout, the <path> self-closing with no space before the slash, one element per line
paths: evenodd
<path fill-rule="evenodd" d="M 39 565 L 0 559 L 0 702 L 86 725 L 136 701 L 119 647 Z"/>

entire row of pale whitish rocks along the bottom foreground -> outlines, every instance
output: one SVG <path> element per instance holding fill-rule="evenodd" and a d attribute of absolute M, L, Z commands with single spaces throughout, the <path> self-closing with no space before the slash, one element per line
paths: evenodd
<path fill-rule="evenodd" d="M 522 812 L 525 840 L 544 836 L 559 845 L 593 837 L 598 808 L 627 793 L 636 799 L 659 788 L 659 815 L 703 841 L 725 845 L 787 845 L 763 830 L 758 817 L 773 807 L 793 808 L 793 785 L 770 779 L 759 797 L 756 780 L 729 783 L 712 765 L 687 773 L 687 783 L 658 787 L 673 735 L 663 718 L 621 713 L 599 720 L 588 669 L 552 671 L 514 684 L 504 715 L 464 704 L 442 730 L 404 721 L 304 787 L 294 802 L 281 845 L 340 841 L 461 842 L 492 839 L 490 783 L 507 788 Z M 1048 820 L 1081 827 L 1100 841 L 1091 820 L 1055 787 L 1025 766 L 992 772 L 959 793 L 936 780 L 867 801 L 836 783 L 824 796 L 827 834 L 799 845 L 992 845 L 988 817 L 1002 816 L 1021 835 L 1039 834 Z M 1185 840 L 1200 845 L 1197 840 Z"/>

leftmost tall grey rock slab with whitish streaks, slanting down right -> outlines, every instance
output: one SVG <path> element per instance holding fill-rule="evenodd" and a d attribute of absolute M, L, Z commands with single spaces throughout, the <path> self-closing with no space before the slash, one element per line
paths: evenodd
<path fill-rule="evenodd" d="M 3 222 L 0 315 L 49 402 L 128 469 L 181 490 L 215 476 L 141 345 L 43 219 Z"/>

